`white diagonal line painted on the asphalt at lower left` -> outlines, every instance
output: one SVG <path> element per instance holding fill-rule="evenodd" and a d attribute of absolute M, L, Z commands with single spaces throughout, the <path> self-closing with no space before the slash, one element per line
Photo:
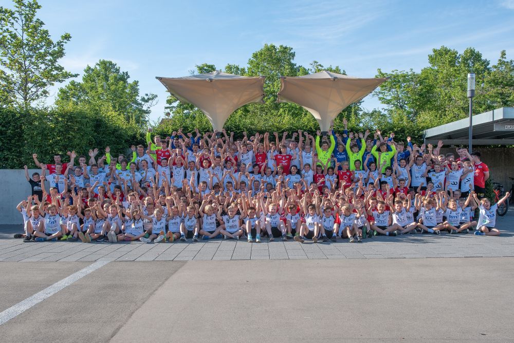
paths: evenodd
<path fill-rule="evenodd" d="M 14 306 L 11 306 L 3 312 L 0 312 L 0 325 L 5 324 L 7 321 L 30 309 L 35 304 L 38 304 L 46 298 L 56 294 L 60 290 L 68 287 L 70 284 L 83 278 L 87 274 L 96 271 L 97 269 L 101 268 L 107 263 L 109 263 L 109 261 L 97 261 L 93 264 L 90 264 L 86 268 L 78 271 L 77 273 L 65 277 L 61 281 L 58 281 L 52 284 L 51 286 L 45 288 L 43 291 L 36 293 L 25 300 L 20 301 L 19 303 L 15 304 Z"/>

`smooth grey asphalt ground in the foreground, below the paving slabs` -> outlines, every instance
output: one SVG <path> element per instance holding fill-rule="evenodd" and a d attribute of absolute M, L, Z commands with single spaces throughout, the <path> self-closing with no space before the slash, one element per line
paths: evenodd
<path fill-rule="evenodd" d="M 85 264 L 0 263 L 0 311 Z M 6 342 L 512 341 L 513 279 L 510 257 L 113 261 L 0 333 Z"/>

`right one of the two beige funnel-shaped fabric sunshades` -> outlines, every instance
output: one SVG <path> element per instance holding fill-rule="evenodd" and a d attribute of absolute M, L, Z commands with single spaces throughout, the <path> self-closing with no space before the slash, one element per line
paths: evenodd
<path fill-rule="evenodd" d="M 282 77 L 277 102 L 293 102 L 312 113 L 321 131 L 347 106 L 371 93 L 386 79 L 359 79 L 330 71 Z"/>

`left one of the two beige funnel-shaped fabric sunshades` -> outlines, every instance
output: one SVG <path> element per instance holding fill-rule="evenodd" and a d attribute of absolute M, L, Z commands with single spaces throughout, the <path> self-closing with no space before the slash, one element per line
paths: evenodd
<path fill-rule="evenodd" d="M 214 130 L 221 131 L 238 108 L 264 99 L 264 77 L 249 78 L 213 71 L 182 78 L 156 78 L 176 98 L 198 107 Z"/>

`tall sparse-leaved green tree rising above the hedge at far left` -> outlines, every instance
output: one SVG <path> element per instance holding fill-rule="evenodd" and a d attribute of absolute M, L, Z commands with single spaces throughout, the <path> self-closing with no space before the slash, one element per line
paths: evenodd
<path fill-rule="evenodd" d="M 14 0 L 14 8 L 0 7 L 0 100 L 28 109 L 48 96 L 48 87 L 76 77 L 59 64 L 71 35 L 53 42 L 36 18 L 36 0 Z"/>

